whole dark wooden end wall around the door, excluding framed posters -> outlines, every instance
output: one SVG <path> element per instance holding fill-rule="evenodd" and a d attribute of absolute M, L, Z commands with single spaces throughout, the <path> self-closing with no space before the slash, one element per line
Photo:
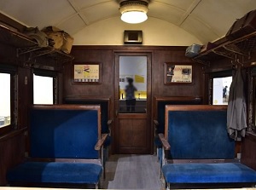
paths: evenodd
<path fill-rule="evenodd" d="M 102 63 L 102 84 L 74 84 L 73 64 L 64 67 L 64 96 L 75 95 L 113 95 L 113 52 L 151 52 L 152 53 L 152 95 L 187 96 L 202 95 L 202 65 L 193 63 L 185 57 L 186 47 L 144 47 L 144 46 L 74 46 L 73 63 Z M 164 63 L 193 64 L 193 84 L 164 84 Z"/>

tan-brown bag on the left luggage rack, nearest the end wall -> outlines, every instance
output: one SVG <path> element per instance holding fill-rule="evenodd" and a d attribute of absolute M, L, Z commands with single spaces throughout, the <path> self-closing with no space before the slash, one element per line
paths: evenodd
<path fill-rule="evenodd" d="M 42 31 L 45 32 L 49 39 L 54 42 L 52 46 L 55 49 L 60 49 L 64 53 L 70 54 L 73 46 L 73 37 L 71 37 L 67 32 L 62 31 L 55 26 L 47 26 Z"/>

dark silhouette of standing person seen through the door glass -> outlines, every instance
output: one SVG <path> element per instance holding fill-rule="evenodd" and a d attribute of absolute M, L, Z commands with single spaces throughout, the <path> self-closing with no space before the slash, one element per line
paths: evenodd
<path fill-rule="evenodd" d="M 125 86 L 125 102 L 126 102 L 126 111 L 135 112 L 136 99 L 134 92 L 137 91 L 137 88 L 133 85 L 133 79 L 127 78 L 128 85 Z"/>

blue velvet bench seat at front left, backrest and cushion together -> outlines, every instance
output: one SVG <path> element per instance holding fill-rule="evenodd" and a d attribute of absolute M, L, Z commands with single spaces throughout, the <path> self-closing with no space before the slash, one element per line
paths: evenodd
<path fill-rule="evenodd" d="M 97 187 L 103 170 L 96 148 L 101 139 L 100 107 L 34 106 L 30 116 L 29 156 L 44 161 L 26 161 L 10 169 L 10 185 L 33 182 Z"/>

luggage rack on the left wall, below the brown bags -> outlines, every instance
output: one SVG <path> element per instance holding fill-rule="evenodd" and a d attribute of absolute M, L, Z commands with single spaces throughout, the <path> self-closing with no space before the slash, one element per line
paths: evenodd
<path fill-rule="evenodd" d="M 74 59 L 73 55 L 67 55 L 61 50 L 53 47 L 39 47 L 38 43 L 33 41 L 31 37 L 20 32 L 10 30 L 7 26 L 0 24 L 0 42 L 15 46 L 17 57 L 20 55 L 30 54 L 28 60 L 33 60 L 38 56 L 46 55 L 58 63 L 65 63 Z"/>

